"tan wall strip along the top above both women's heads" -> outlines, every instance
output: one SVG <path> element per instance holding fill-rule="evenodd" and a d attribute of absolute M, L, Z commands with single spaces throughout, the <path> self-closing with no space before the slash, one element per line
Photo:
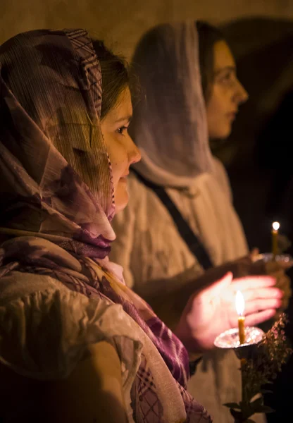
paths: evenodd
<path fill-rule="evenodd" d="M 87 27 L 126 56 L 146 29 L 168 20 L 293 19 L 293 0 L 0 0 L 0 6 L 0 42 L 41 27 Z"/>

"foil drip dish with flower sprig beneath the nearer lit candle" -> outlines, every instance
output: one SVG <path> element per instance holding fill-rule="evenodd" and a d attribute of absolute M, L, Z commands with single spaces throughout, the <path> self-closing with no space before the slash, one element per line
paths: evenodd
<path fill-rule="evenodd" d="M 251 416 L 256 413 L 274 411 L 263 403 L 263 386 L 275 378 L 292 354 L 284 331 L 286 323 L 286 315 L 281 314 L 267 333 L 247 326 L 244 343 L 240 343 L 238 328 L 220 333 L 215 339 L 217 348 L 234 350 L 240 361 L 242 398 L 239 403 L 223 404 L 230 409 L 235 423 L 254 422 Z"/>

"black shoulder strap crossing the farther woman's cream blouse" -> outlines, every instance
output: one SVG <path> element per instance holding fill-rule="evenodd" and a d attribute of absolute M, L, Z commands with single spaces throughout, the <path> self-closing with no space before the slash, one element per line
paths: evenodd
<path fill-rule="evenodd" d="M 180 233 L 183 240 L 185 240 L 185 243 L 189 247 L 189 250 L 192 252 L 192 254 L 197 257 L 197 260 L 201 264 L 201 266 L 206 270 L 210 267 L 213 267 L 213 264 L 211 262 L 210 257 L 208 256 L 208 252 L 206 252 L 206 249 L 204 248 L 204 245 L 202 245 L 199 238 L 197 238 L 197 235 L 192 231 L 192 229 L 189 227 L 189 224 L 185 219 L 182 217 L 181 213 L 175 206 L 174 202 L 171 200 L 169 195 L 167 194 L 166 190 L 161 187 L 160 185 L 156 185 L 155 183 L 152 183 L 150 180 L 145 179 L 140 173 L 132 169 L 132 171 L 135 173 L 137 178 L 148 188 L 151 188 L 158 198 L 163 202 L 166 209 L 168 209 L 168 212 L 173 218 L 173 221 L 175 225 L 177 226 L 177 230 Z"/>

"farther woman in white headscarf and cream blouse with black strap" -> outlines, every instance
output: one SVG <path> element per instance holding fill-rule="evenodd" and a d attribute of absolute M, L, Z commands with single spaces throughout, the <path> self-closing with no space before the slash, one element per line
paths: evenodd
<path fill-rule="evenodd" d="M 113 222 L 112 259 L 173 327 L 188 295 L 211 275 L 250 271 L 227 174 L 208 142 L 229 135 L 247 92 L 222 35 L 204 23 L 154 27 L 132 65 L 141 87 L 130 132 L 142 161 L 130 175 L 129 206 Z M 234 353 L 205 355 L 189 390 L 218 423 L 232 422 L 223 403 L 241 399 Z"/>

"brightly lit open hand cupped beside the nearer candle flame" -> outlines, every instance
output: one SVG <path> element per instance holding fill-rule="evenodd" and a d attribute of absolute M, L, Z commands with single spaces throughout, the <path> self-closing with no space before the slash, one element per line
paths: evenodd
<path fill-rule="evenodd" d="M 232 279 L 232 273 L 227 273 L 211 285 L 196 290 L 185 305 L 174 333 L 189 353 L 203 353 L 211 350 L 220 333 L 237 327 L 238 319 L 235 310 L 237 290 L 241 291 L 245 298 L 246 326 L 255 326 L 270 319 L 275 315 L 275 309 L 280 307 L 282 293 L 275 288 L 275 278 L 245 276 Z M 243 313 L 243 320 L 243 302 L 242 310 L 239 312 Z M 247 343 L 247 327 L 244 333 L 245 343 Z"/>

